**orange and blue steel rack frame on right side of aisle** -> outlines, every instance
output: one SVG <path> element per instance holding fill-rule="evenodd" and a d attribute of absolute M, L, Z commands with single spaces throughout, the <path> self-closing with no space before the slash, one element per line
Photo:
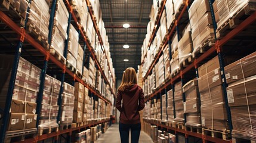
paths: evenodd
<path fill-rule="evenodd" d="M 165 7 L 165 2 L 162 6 L 162 9 L 164 9 Z M 184 12 L 186 11 L 186 9 L 189 9 L 189 4 L 190 4 L 190 0 L 186 0 L 186 2 L 184 2 L 184 7 L 180 13 L 180 15 L 177 17 L 177 19 L 174 21 L 174 24 L 169 28 L 168 33 L 166 33 L 166 39 L 164 39 L 164 41 L 162 42 L 162 47 L 159 49 L 159 51 L 156 53 L 155 57 L 153 58 L 152 63 L 150 64 L 149 70 L 147 70 L 146 72 L 146 76 L 144 76 L 143 82 L 147 79 L 147 76 L 150 75 L 153 67 L 155 66 L 156 61 L 158 61 L 159 57 L 162 55 L 162 51 L 164 50 L 166 44 L 171 44 L 171 38 L 172 35 L 174 34 L 175 30 L 178 30 L 178 23 L 181 20 L 181 18 L 183 17 Z M 216 38 L 216 29 L 217 29 L 217 23 L 215 22 L 215 16 L 214 16 L 214 11 L 213 11 L 213 7 L 212 7 L 212 3 L 214 1 L 209 0 L 209 6 L 211 9 L 211 15 L 212 15 L 212 20 L 214 23 L 214 33 L 215 33 L 215 38 Z M 159 18 L 161 18 L 162 15 L 162 10 L 159 12 L 159 17 L 157 24 L 158 26 L 160 25 L 159 23 Z M 161 87 L 159 87 L 158 89 L 156 89 L 155 92 L 153 92 L 153 94 L 150 94 L 148 97 L 146 97 L 146 101 L 151 101 L 153 98 L 158 97 L 158 95 L 161 95 L 162 91 L 165 91 L 166 93 L 166 89 L 172 89 L 172 92 L 174 94 L 174 83 L 177 82 L 177 80 L 183 80 L 184 76 L 186 76 L 186 74 L 188 74 L 190 71 L 193 71 L 195 74 L 195 77 L 199 77 L 198 75 L 198 67 L 199 64 L 205 63 L 207 61 L 208 57 L 211 57 L 211 55 L 217 55 L 219 62 L 220 62 L 220 69 L 221 69 L 221 78 L 224 81 L 223 82 L 223 91 L 224 91 L 224 97 L 225 97 L 225 103 L 226 103 L 226 109 L 227 109 L 227 117 L 229 120 L 229 128 L 230 128 L 230 132 L 232 132 L 232 121 L 231 121 L 231 113 L 230 113 L 230 108 L 229 108 L 229 104 L 227 101 L 227 92 L 226 92 L 226 87 L 227 87 L 227 83 L 226 83 L 226 77 L 224 74 L 224 60 L 223 60 L 223 49 L 225 49 L 224 45 L 229 42 L 232 38 L 235 38 L 235 36 L 237 36 L 240 32 L 242 32 L 243 30 L 245 30 L 248 26 L 250 26 L 252 23 L 255 23 L 256 21 L 256 12 L 252 12 L 251 15 L 249 15 L 247 18 L 245 18 L 245 20 L 242 21 L 242 23 L 238 24 L 238 26 L 236 26 L 234 29 L 232 29 L 229 33 L 227 33 L 226 36 L 224 36 L 221 39 L 217 39 L 216 38 L 216 42 L 214 44 L 214 46 L 211 46 L 207 51 L 205 51 L 202 55 L 200 55 L 198 58 L 195 58 L 193 60 L 192 63 L 190 63 L 187 67 L 184 67 L 184 69 L 181 69 L 178 74 L 176 74 L 174 77 L 171 77 L 167 80 L 165 80 L 164 85 L 162 85 Z M 152 43 L 152 39 L 155 37 L 156 35 L 156 29 L 153 30 L 152 36 L 150 38 L 150 43 L 149 46 Z M 148 46 L 148 48 L 149 48 Z M 147 49 L 148 49 L 147 48 Z M 171 58 L 171 48 L 169 48 L 169 56 Z M 147 54 L 146 54 L 147 55 Z M 142 55 L 143 56 L 143 61 L 141 64 L 144 63 L 144 58 L 146 58 L 146 55 Z M 167 97 L 167 95 L 166 95 Z M 174 98 L 174 97 L 173 97 Z M 184 98 L 184 97 L 183 97 Z M 184 99 L 183 99 L 184 100 Z M 174 105 L 175 106 L 175 105 Z M 175 116 L 175 110 L 174 110 L 174 116 Z M 167 117 L 168 118 L 168 117 Z M 202 139 L 203 142 L 207 142 L 207 141 L 211 141 L 211 142 L 232 142 L 232 140 L 230 141 L 225 141 L 223 139 L 219 139 L 219 138 L 212 138 L 212 136 L 207 136 L 207 135 L 203 135 L 202 133 L 195 133 L 195 132 L 190 132 L 188 130 L 183 130 L 183 129 L 178 129 L 178 128 L 172 128 L 170 126 L 166 126 L 164 125 L 162 122 L 157 122 L 157 121 L 153 121 L 153 120 L 148 120 L 148 119 L 144 119 L 145 122 L 150 123 L 152 125 L 156 125 L 158 126 L 158 128 L 162 128 L 162 129 L 166 129 L 168 130 L 172 130 L 174 131 L 175 134 L 177 133 L 183 133 L 185 135 L 186 138 L 186 142 L 188 142 L 188 136 L 193 136 L 199 139 Z"/>

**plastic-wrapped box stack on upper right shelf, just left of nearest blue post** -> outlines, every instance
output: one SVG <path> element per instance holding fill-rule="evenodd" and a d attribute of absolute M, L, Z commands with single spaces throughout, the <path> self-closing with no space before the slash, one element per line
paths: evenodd
<path fill-rule="evenodd" d="M 215 43 L 209 1 L 194 1 L 189 8 L 189 19 L 192 29 L 193 54 L 203 52 L 202 47 L 211 46 Z"/>

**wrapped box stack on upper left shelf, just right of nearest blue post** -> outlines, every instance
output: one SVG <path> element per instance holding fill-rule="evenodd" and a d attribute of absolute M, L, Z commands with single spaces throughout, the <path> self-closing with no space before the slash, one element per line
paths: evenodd
<path fill-rule="evenodd" d="M 26 1 L 20 1 L 16 5 L 22 5 Z M 27 9 L 27 7 L 26 7 Z M 21 10 L 21 9 L 20 9 Z M 33 0 L 30 5 L 29 17 L 27 21 L 27 33 L 42 43 L 44 48 L 48 48 L 48 27 L 50 14 L 49 5 L 45 1 Z M 24 10 L 26 12 L 26 10 Z M 26 13 L 25 13 L 26 14 Z"/>

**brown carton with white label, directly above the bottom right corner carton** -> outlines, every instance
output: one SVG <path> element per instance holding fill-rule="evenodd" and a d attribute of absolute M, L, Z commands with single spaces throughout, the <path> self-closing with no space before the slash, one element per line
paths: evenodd
<path fill-rule="evenodd" d="M 256 104 L 256 76 L 247 77 L 230 83 L 227 87 L 229 106 Z"/>

